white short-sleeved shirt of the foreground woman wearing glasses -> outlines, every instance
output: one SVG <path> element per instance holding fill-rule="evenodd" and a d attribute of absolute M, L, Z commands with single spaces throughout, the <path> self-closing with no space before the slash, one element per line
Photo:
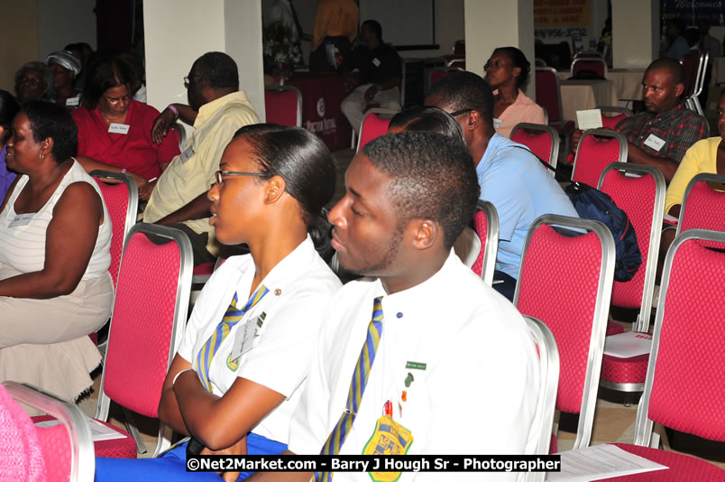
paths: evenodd
<path fill-rule="evenodd" d="M 197 369 L 197 355 L 221 322 L 238 292 L 237 306 L 249 298 L 254 276 L 252 255 L 233 256 L 212 274 L 188 320 L 179 355 Z M 302 242 L 262 280 L 269 292 L 229 333 L 212 359 L 209 379 L 212 393 L 222 396 L 237 377 L 271 388 L 286 400 L 252 431 L 270 440 L 287 443 L 289 419 L 297 406 L 314 354 L 326 308 L 340 281 L 317 255 L 312 239 Z M 247 321 L 266 313 L 252 349 L 227 366 L 237 331 Z M 237 340 L 239 342 L 241 340 Z"/>

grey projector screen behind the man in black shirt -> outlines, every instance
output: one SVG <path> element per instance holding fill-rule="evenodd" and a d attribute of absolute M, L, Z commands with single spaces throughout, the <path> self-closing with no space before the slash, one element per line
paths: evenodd
<path fill-rule="evenodd" d="M 382 40 L 398 50 L 437 49 L 436 0 L 360 0 L 360 24 L 377 20 Z"/>

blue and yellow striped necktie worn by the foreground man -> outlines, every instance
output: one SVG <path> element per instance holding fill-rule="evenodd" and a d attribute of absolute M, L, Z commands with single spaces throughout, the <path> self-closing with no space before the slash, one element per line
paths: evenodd
<path fill-rule="evenodd" d="M 345 410 L 337 421 L 335 428 L 327 437 L 325 445 L 320 451 L 320 455 L 337 455 L 340 453 L 345 437 L 353 428 L 353 422 L 357 415 L 357 410 L 363 400 L 365 386 L 368 383 L 368 375 L 372 362 L 375 361 L 375 351 L 378 349 L 378 343 L 382 335 L 382 296 L 375 298 L 372 303 L 372 320 L 368 325 L 368 336 L 365 338 L 365 344 L 360 352 L 357 365 L 353 372 L 353 380 L 350 382 L 350 392 L 347 394 L 347 404 Z M 332 472 L 315 472 L 315 482 L 332 480 Z"/>

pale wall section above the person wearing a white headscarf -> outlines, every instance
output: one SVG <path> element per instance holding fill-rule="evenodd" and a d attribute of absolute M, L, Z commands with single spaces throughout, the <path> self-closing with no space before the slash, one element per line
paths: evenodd
<path fill-rule="evenodd" d="M 96 0 L 37 0 L 39 60 L 69 43 L 87 42 L 96 50 Z"/>

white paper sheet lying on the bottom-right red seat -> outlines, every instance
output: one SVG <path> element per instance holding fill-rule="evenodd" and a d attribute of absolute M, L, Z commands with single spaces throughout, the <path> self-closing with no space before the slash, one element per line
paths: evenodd
<path fill-rule="evenodd" d="M 547 482 L 585 482 L 667 468 L 610 444 L 566 450 L 559 455 L 562 471 L 548 472 Z"/>

